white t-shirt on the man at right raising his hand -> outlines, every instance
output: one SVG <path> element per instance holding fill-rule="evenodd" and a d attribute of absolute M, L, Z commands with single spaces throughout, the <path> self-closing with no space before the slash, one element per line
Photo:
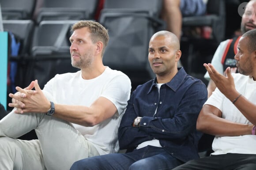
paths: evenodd
<path fill-rule="evenodd" d="M 236 90 L 241 93 L 252 103 L 256 104 L 256 81 L 250 76 L 245 76 L 239 73 L 232 73 L 235 81 Z M 226 98 L 219 90 L 213 92 L 211 97 L 204 105 L 213 105 L 222 111 L 222 118 L 228 119 L 237 123 L 252 124 L 245 116 Z M 235 129 L 234 129 L 235 130 Z M 213 155 L 226 153 L 241 153 L 241 154 L 256 154 L 256 135 L 241 135 L 241 136 L 216 136 L 212 149 Z"/>

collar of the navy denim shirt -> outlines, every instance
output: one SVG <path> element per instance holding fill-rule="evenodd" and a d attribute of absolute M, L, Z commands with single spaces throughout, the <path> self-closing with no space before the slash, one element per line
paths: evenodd
<path fill-rule="evenodd" d="M 173 77 L 171 81 L 166 83 L 166 85 L 171 88 L 173 91 L 176 91 L 184 81 L 185 77 L 187 76 L 187 73 L 185 72 L 183 67 L 178 68 L 177 74 Z M 153 90 L 153 88 L 157 88 L 157 82 L 156 82 L 156 77 L 154 78 L 154 81 L 152 82 L 152 85 L 150 89 L 148 90 L 148 93 Z"/>

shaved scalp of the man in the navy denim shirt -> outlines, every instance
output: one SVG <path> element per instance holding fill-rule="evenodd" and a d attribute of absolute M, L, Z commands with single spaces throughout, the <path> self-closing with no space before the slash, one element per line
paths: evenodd
<path fill-rule="evenodd" d="M 158 31 L 157 33 L 154 33 L 154 35 L 151 37 L 150 42 L 158 36 L 166 37 L 166 40 L 176 51 L 180 50 L 180 41 L 175 34 L 169 31 Z"/>

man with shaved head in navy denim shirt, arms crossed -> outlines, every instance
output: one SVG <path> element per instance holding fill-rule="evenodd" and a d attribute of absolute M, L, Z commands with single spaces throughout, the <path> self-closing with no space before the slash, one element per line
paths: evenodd
<path fill-rule="evenodd" d="M 156 78 L 139 85 L 128 101 L 118 135 L 120 148 L 127 152 L 83 159 L 71 170 L 172 169 L 199 157 L 196 120 L 207 88 L 177 68 L 180 57 L 173 33 L 160 31 L 151 37 L 148 60 Z"/>

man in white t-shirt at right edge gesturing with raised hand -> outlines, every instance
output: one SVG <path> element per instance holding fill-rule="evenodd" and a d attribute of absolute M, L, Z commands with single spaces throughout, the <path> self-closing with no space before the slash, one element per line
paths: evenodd
<path fill-rule="evenodd" d="M 217 88 L 205 102 L 196 128 L 215 135 L 213 153 L 175 170 L 256 170 L 256 29 L 240 38 L 235 55 L 239 73 L 223 76 L 204 64 Z"/>

